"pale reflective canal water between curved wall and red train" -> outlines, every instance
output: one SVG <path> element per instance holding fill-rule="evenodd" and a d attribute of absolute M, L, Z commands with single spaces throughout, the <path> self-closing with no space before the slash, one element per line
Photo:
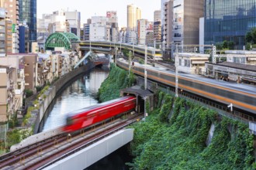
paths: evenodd
<path fill-rule="evenodd" d="M 43 131 L 64 125 L 67 113 L 72 110 L 98 104 L 95 95 L 108 74 L 109 71 L 106 69 L 95 68 L 90 73 L 79 76 L 78 80 L 64 89 L 56 98 L 56 103 L 47 117 Z"/>

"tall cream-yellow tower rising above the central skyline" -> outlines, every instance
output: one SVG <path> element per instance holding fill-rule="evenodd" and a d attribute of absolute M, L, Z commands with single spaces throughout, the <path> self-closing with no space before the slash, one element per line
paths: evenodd
<path fill-rule="evenodd" d="M 137 20 L 141 19 L 141 10 L 136 5 L 127 5 L 127 31 L 136 31 Z"/>

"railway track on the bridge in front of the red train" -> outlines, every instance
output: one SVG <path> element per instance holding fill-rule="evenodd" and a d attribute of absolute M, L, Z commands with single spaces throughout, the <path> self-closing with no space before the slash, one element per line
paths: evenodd
<path fill-rule="evenodd" d="M 59 134 L 26 148 L 9 152 L 0 157 L 0 168 L 4 170 L 38 169 L 44 165 L 52 164 L 62 157 L 74 154 L 75 151 L 99 141 L 106 135 L 132 124 L 141 117 L 141 114 L 133 114 L 126 116 L 126 119 L 119 118 L 115 121 L 102 122 L 81 131 Z"/>

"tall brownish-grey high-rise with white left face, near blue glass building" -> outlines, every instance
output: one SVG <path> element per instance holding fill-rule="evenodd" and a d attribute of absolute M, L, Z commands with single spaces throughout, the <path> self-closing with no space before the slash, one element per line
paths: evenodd
<path fill-rule="evenodd" d="M 175 0 L 173 5 L 173 41 L 180 45 L 199 44 L 199 19 L 204 0 Z"/>

